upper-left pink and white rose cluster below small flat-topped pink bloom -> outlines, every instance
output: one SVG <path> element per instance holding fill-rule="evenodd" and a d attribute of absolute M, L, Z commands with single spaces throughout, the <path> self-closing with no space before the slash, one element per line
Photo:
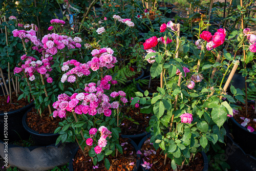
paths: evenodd
<path fill-rule="evenodd" d="M 66 46 L 68 49 L 81 48 L 81 38 L 75 37 L 74 39 L 67 35 L 58 35 L 56 33 L 47 34 L 42 37 L 41 40 L 46 52 L 55 55 L 58 50 L 64 49 Z"/>

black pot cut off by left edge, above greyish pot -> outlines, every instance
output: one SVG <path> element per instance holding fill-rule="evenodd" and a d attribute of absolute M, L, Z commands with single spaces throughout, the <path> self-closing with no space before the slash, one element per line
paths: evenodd
<path fill-rule="evenodd" d="M 29 137 L 29 134 L 25 131 L 22 125 L 22 118 L 26 113 L 26 111 L 31 109 L 33 105 L 34 105 L 34 102 L 31 102 L 30 104 L 24 106 L 23 108 L 7 112 L 7 115 L 5 115 L 5 113 L 0 113 L 0 139 L 1 140 L 8 139 L 9 142 L 12 142 L 20 139 L 27 139 Z M 8 135 L 6 135 L 6 133 Z M 5 135 L 7 137 L 5 137 Z"/>

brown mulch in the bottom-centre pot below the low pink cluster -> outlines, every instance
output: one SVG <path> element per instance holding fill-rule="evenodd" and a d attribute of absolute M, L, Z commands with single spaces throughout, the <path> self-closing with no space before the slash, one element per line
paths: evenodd
<path fill-rule="evenodd" d="M 128 138 L 119 138 L 119 143 L 129 142 Z M 125 144 L 122 146 L 123 154 L 118 153 L 118 157 L 109 156 L 108 159 L 110 161 L 110 169 L 109 171 L 131 171 L 134 167 L 136 167 L 136 151 L 131 143 Z M 124 148 L 127 148 L 124 150 Z M 131 155 L 131 153 L 133 153 Z M 115 153 L 116 154 L 116 153 Z M 98 168 L 93 169 L 93 162 L 90 161 L 91 157 L 88 155 L 84 157 L 80 148 L 78 149 L 78 153 L 75 155 L 73 159 L 73 168 L 75 171 L 80 170 L 96 170 L 96 171 L 105 171 L 107 170 L 104 166 L 104 160 L 97 162 Z M 133 165 L 130 165 L 131 162 L 134 162 Z"/>

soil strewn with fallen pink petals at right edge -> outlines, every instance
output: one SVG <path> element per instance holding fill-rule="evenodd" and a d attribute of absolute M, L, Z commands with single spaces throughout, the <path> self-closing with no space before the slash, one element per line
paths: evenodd
<path fill-rule="evenodd" d="M 238 115 L 234 115 L 233 118 L 238 122 L 242 123 L 244 120 L 242 120 L 240 117 L 245 117 L 250 119 L 250 122 L 245 126 L 251 126 L 256 131 L 256 122 L 253 121 L 253 119 L 256 119 L 256 114 L 254 114 L 254 102 L 248 103 L 248 113 L 246 116 L 246 108 L 244 103 L 237 103 L 237 105 L 241 106 L 242 110 L 239 111 Z"/>

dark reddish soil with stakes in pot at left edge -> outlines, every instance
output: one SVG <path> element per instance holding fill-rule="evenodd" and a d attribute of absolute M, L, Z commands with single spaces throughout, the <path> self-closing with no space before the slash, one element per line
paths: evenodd
<path fill-rule="evenodd" d="M 18 94 L 18 97 L 20 94 L 22 94 L 22 92 L 20 92 Z M 12 102 L 9 101 L 9 103 L 7 103 L 8 96 L 6 96 L 6 98 L 5 98 L 4 95 L 1 95 L 0 96 L 0 101 L 1 101 L 0 113 L 14 111 L 14 110 L 23 108 L 24 106 L 29 104 L 29 102 L 27 100 L 25 100 L 24 98 L 18 100 L 18 97 L 16 97 L 15 92 L 13 92 L 12 93 Z"/>

